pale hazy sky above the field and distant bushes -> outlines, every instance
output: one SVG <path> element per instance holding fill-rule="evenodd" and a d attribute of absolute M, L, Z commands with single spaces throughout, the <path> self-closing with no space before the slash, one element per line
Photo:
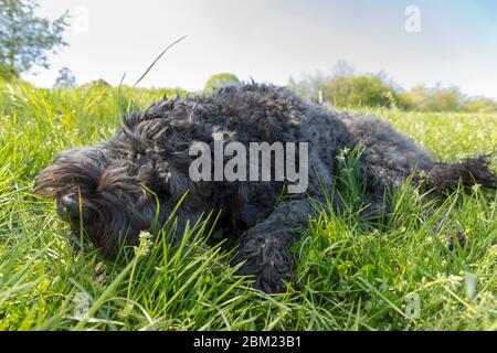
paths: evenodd
<path fill-rule="evenodd" d="M 71 46 L 52 68 L 25 77 L 51 86 L 62 66 L 78 83 L 133 84 L 171 42 L 188 35 L 141 86 L 202 88 L 214 73 L 286 84 L 290 75 L 329 73 L 338 60 L 359 72 L 385 71 L 409 88 L 456 84 L 497 98 L 495 0 L 40 0 L 40 12 L 73 13 Z M 421 10 L 409 33 L 408 6 Z"/>

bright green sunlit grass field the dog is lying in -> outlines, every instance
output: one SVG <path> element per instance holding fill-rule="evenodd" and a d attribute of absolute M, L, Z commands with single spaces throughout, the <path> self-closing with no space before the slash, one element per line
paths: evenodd
<path fill-rule="evenodd" d="M 202 224 L 188 244 L 144 239 L 127 265 L 74 253 L 53 202 L 31 194 L 34 176 L 165 94 L 175 92 L 0 84 L 0 330 L 497 330 L 497 194 L 477 188 L 444 201 L 403 188 L 381 231 L 353 212 L 322 214 L 278 296 L 233 276 L 230 247 L 195 237 Z M 443 160 L 496 150 L 497 115 L 368 113 Z M 444 243 L 454 225 L 468 238 L 458 255 Z"/>

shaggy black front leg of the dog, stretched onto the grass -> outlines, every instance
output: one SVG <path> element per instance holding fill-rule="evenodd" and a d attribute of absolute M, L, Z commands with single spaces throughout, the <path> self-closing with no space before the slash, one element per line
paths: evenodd
<path fill-rule="evenodd" d="M 311 207 L 307 200 L 282 202 L 263 222 L 241 237 L 240 275 L 253 275 L 254 287 L 268 293 L 283 292 L 294 278 L 292 244 L 306 225 Z"/>

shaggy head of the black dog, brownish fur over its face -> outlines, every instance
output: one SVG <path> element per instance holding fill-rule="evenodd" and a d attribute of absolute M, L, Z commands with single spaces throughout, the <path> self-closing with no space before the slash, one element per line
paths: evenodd
<path fill-rule="evenodd" d="M 56 200 L 73 240 L 83 235 L 114 257 L 119 246 L 136 245 L 139 232 L 151 226 L 156 203 L 126 167 L 109 160 L 97 147 L 64 151 L 38 175 L 34 193 Z"/>

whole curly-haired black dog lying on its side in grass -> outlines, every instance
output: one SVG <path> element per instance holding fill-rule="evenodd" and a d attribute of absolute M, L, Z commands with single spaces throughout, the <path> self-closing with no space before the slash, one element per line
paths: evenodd
<path fill-rule="evenodd" d="M 189 171 L 194 157 L 189 150 L 194 142 L 214 147 L 216 135 L 224 143 L 245 147 L 308 142 L 306 192 L 277 202 L 295 180 L 193 181 Z M 188 192 L 178 211 L 176 236 L 182 235 L 188 221 L 220 212 L 216 226 L 241 239 L 241 272 L 254 275 L 256 288 L 278 292 L 292 279 L 289 247 L 315 213 L 310 200 L 325 201 L 324 190 L 334 185 L 336 157 L 358 143 L 363 148 L 360 168 L 370 215 L 385 212 L 385 189 L 398 188 L 415 172 L 426 175 L 426 186 L 438 192 L 459 181 L 497 184 L 486 158 L 437 164 L 426 150 L 377 117 L 339 115 L 285 88 L 247 85 L 223 88 L 211 97 L 166 99 L 131 114 L 110 141 L 59 154 L 38 176 L 35 192 L 56 199 L 75 236 L 83 225 L 106 257 L 123 245 L 136 245 L 140 231 L 151 229 L 155 221 L 160 228 Z"/>

